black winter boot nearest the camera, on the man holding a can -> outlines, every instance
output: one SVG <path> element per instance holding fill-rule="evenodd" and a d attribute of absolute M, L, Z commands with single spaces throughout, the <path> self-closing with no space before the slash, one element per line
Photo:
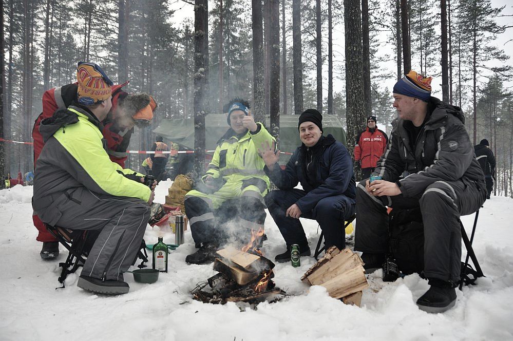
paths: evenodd
<path fill-rule="evenodd" d="M 428 291 L 417 299 L 420 310 L 428 313 L 443 313 L 456 304 L 456 290 L 451 283 L 441 279 L 430 279 Z"/>

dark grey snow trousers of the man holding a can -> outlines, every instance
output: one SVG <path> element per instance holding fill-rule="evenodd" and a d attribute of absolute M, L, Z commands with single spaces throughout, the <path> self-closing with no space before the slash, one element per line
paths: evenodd
<path fill-rule="evenodd" d="M 389 218 L 385 206 L 394 210 L 420 207 L 424 225 L 424 275 L 457 282 L 461 270 L 459 219 L 479 210 L 485 201 L 484 188 L 461 180 L 436 181 L 418 197 L 402 194 L 374 197 L 365 189 L 366 180 L 356 187 L 354 250 L 388 253 Z"/>

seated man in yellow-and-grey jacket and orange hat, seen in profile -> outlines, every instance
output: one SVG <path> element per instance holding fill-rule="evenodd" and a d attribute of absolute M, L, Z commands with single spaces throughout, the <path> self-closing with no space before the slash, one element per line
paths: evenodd
<path fill-rule="evenodd" d="M 123 272 L 139 250 L 155 194 L 142 174 L 107 154 L 101 122 L 112 106 L 112 82 L 94 63 L 79 63 L 77 80 L 77 100 L 41 121 L 45 145 L 35 165 L 32 207 L 44 223 L 99 230 L 77 286 L 122 294 L 129 290 Z"/>

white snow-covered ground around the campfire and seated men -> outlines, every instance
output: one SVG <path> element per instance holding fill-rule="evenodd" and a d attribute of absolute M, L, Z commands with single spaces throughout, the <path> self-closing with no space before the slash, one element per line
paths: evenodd
<path fill-rule="evenodd" d="M 164 202 L 170 181 L 157 187 L 156 201 Z M 302 257 L 301 267 L 277 263 L 276 285 L 290 297 L 261 303 L 256 310 L 235 304 L 211 305 L 192 299 L 196 283 L 215 274 L 212 264 L 188 265 L 195 251 L 191 232 L 186 243 L 170 254 L 169 272 L 154 284 L 125 280 L 130 292 L 100 296 L 76 286 L 79 274 L 59 286 L 59 261 L 43 261 L 35 241 L 30 204 L 32 187 L 0 191 L 0 340 L 511 340 L 513 339 L 513 200 L 492 197 L 481 209 L 474 251 L 486 278 L 479 285 L 457 291 L 455 308 L 444 314 L 420 311 L 415 300 L 427 281 L 410 275 L 384 283 L 380 271 L 369 278 L 362 308 L 346 306 L 322 287 L 308 287 L 299 278 L 314 264 Z M 462 218 L 470 231 L 473 215 Z M 317 224 L 303 220 L 313 250 Z M 284 250 L 283 239 L 268 215 L 268 258 Z M 148 226 L 145 239 L 174 242 L 174 235 Z M 65 258 L 61 247 L 60 260 Z M 80 272 L 80 271 L 79 271 Z M 244 311 L 241 311 L 244 310 Z"/>

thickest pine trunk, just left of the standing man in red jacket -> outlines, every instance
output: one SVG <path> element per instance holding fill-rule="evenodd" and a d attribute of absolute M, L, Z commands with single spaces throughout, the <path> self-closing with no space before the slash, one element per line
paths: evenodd
<path fill-rule="evenodd" d="M 362 20 L 359 0 L 344 0 L 344 24 L 346 36 L 346 118 L 347 141 L 355 141 L 362 122 L 365 122 L 363 63 L 362 63 Z M 354 144 L 348 143 L 351 156 Z"/>

